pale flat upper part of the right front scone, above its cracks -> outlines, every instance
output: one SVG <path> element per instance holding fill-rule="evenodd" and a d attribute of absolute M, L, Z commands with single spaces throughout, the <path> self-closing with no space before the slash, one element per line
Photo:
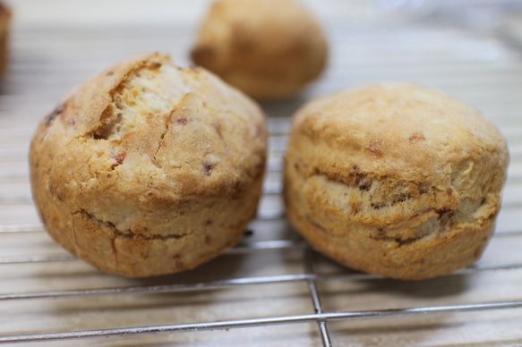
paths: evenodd
<path fill-rule="evenodd" d="M 356 163 L 369 172 L 446 185 L 463 157 L 473 159 L 506 147 L 496 127 L 472 106 L 407 83 L 323 97 L 297 114 L 294 128 L 300 132 L 297 136 L 332 149 L 317 157 L 331 163 L 325 169 L 332 173 L 352 171 L 347 165 Z M 493 154 L 500 156 L 500 166 L 506 164 L 505 153 Z"/>

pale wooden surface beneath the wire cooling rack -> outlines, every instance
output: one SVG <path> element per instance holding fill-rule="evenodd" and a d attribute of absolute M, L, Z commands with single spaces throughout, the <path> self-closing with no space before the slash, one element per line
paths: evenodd
<path fill-rule="evenodd" d="M 522 300 L 522 53 L 520 28 L 489 32 L 389 13 L 364 1 L 307 1 L 324 22 L 329 69 L 303 97 L 263 105 L 270 117 L 267 190 L 280 189 L 280 159 L 289 117 L 306 99 L 381 80 L 410 80 L 444 89 L 479 108 L 509 140 L 511 165 L 496 236 L 470 271 L 418 283 L 345 276 L 319 283 L 328 312 L 438 307 Z M 36 124 L 68 89 L 129 55 L 161 50 L 189 63 L 187 52 L 208 2 L 16 0 L 12 61 L 0 89 L 0 258 L 66 253 L 43 232 L 30 202 L 27 148 Z M 502 32 L 497 36 L 497 32 Z M 509 41 L 503 38 L 509 37 Z M 103 275 L 80 260 L 0 264 L 0 293 L 62 291 L 143 284 L 188 284 L 304 273 L 300 241 L 278 194 L 261 203 L 264 219 L 244 240 L 289 241 L 284 249 L 227 254 L 190 273 L 150 280 Z M 30 233 L 6 233 L 13 228 Z M 0 259 L 0 260 L 2 260 Z M 320 275 L 349 274 L 319 255 Z M 0 300 L 0 337 L 124 326 L 170 325 L 313 313 L 306 282 L 252 284 L 214 291 L 77 298 Z M 327 324 L 334 346 L 517 346 L 522 309 L 340 320 Z M 229 331 L 157 334 L 31 345 L 319 346 L 315 323 Z"/>

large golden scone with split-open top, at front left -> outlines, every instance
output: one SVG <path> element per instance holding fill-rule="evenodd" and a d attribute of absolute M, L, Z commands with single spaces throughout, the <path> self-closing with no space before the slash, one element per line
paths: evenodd
<path fill-rule="evenodd" d="M 239 241 L 266 159 L 251 99 L 168 55 L 133 57 L 81 85 L 30 147 L 47 231 L 107 273 L 190 269 Z"/>

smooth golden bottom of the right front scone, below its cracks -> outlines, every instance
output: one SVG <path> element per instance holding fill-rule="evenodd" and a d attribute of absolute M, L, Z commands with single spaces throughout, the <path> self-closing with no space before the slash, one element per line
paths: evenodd
<path fill-rule="evenodd" d="M 288 194 L 291 196 L 291 193 Z M 422 280 L 450 274 L 481 257 L 493 225 L 466 225 L 429 240 L 404 244 L 369 237 L 375 227 L 344 224 L 350 233 L 329 233 L 321 224 L 287 208 L 287 217 L 306 241 L 339 263 L 370 274 L 403 280 Z"/>

